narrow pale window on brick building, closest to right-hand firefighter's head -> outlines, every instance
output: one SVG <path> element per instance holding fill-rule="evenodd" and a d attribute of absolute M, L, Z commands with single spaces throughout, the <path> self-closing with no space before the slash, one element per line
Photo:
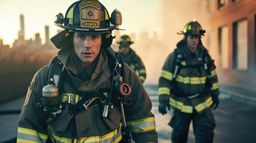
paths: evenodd
<path fill-rule="evenodd" d="M 222 69 L 229 68 L 229 27 L 224 26 L 218 29 L 220 65 Z"/>

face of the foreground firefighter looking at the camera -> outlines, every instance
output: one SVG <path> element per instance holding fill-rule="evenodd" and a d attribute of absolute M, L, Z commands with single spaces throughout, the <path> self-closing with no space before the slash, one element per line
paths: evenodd
<path fill-rule="evenodd" d="M 102 44 L 101 35 L 88 35 L 82 33 L 74 33 L 73 43 L 76 55 L 82 61 L 82 66 L 90 66 L 100 52 Z"/>

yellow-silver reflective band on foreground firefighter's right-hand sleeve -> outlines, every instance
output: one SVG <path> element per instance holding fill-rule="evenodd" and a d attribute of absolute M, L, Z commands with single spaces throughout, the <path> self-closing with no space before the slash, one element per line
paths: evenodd
<path fill-rule="evenodd" d="M 156 130 L 155 117 L 131 120 L 127 122 L 131 133 L 147 132 Z"/>

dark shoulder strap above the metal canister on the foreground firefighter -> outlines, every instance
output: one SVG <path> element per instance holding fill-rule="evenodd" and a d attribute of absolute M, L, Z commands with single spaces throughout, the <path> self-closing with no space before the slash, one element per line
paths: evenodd
<path fill-rule="evenodd" d="M 56 55 L 50 62 L 47 69 L 47 83 L 50 79 L 54 79 L 55 86 L 58 87 L 59 92 L 62 90 L 63 81 L 64 81 L 64 70 L 65 67 L 63 63 L 58 59 Z"/>

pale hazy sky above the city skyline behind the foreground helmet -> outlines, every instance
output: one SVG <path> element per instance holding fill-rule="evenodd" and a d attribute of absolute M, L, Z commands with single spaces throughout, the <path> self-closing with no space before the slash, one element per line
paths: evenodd
<path fill-rule="evenodd" d="M 66 14 L 67 8 L 73 4 L 71 0 L 0 0 L 0 39 L 12 45 L 18 38 L 20 30 L 20 13 L 24 15 L 25 39 L 35 39 L 40 33 L 42 43 L 45 41 L 44 26 L 50 26 L 50 37 L 57 32 L 53 24 L 55 15 Z M 100 0 L 109 14 L 118 9 L 122 13 L 123 24 L 119 26 L 121 34 L 141 33 L 148 31 L 153 35 L 156 31 L 162 34 L 162 10 L 159 0 Z"/>

